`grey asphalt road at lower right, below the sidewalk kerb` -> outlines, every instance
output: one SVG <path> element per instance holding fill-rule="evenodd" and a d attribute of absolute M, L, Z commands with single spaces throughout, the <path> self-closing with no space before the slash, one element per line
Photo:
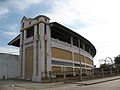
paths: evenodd
<path fill-rule="evenodd" d="M 59 87 L 54 89 L 46 89 L 46 90 L 120 90 L 120 79 L 94 84 L 94 85 L 88 85 L 88 86 L 75 86 L 70 85 L 68 87 Z"/>

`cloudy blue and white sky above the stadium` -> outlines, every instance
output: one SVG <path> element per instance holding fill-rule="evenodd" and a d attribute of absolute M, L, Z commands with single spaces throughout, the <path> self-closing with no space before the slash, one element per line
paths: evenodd
<path fill-rule="evenodd" d="M 97 50 L 94 64 L 120 54 L 119 0 L 0 0 L 0 53 L 18 54 L 7 43 L 20 33 L 23 16 L 46 15 L 88 39 Z"/>

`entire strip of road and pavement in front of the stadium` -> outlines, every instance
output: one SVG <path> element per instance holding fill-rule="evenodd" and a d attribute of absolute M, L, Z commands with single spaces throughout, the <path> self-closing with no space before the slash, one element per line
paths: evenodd
<path fill-rule="evenodd" d="M 88 86 L 64 83 L 44 84 L 24 81 L 0 81 L 0 90 L 120 90 L 120 79 Z"/>

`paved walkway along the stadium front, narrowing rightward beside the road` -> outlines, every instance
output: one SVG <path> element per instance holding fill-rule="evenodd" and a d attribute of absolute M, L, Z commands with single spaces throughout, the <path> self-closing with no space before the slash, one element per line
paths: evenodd
<path fill-rule="evenodd" d="M 74 88 L 82 88 L 81 86 L 93 85 L 97 83 L 118 80 L 120 76 L 74 82 L 70 84 L 64 84 L 64 82 L 58 83 L 35 83 L 31 81 L 22 80 L 1 80 L 0 90 L 73 90 Z M 80 86 L 80 87 L 79 87 Z"/>

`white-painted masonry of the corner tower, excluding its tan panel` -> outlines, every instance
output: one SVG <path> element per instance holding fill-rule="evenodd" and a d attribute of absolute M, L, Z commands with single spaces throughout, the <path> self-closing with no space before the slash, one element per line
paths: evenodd
<path fill-rule="evenodd" d="M 23 25 L 24 24 L 24 25 Z M 46 24 L 46 32 L 45 35 L 45 27 Z M 34 36 L 26 38 L 27 29 L 29 27 L 34 27 Z M 37 30 L 38 29 L 38 30 Z M 21 33 L 20 33 L 20 59 L 22 62 L 22 78 L 29 80 L 29 78 L 25 78 L 25 49 L 27 47 L 33 46 L 33 75 L 32 81 L 41 82 L 41 77 L 44 77 L 42 72 L 45 72 L 45 53 L 44 53 L 44 45 L 45 41 L 47 43 L 47 53 L 49 55 L 46 56 L 46 62 L 50 62 L 50 27 L 49 27 L 49 18 L 46 16 L 40 16 L 37 19 L 27 19 L 23 18 L 21 22 Z M 38 66 L 37 66 L 38 65 Z M 47 70 L 50 69 L 50 65 L 47 65 Z"/>

